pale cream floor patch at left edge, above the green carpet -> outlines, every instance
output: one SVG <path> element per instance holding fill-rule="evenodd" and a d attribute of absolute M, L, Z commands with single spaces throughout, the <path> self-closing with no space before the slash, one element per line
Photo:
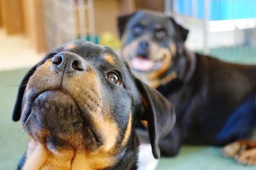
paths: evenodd
<path fill-rule="evenodd" d="M 44 53 L 36 53 L 25 36 L 7 36 L 0 29 L 0 71 L 31 67 L 42 57 Z"/>

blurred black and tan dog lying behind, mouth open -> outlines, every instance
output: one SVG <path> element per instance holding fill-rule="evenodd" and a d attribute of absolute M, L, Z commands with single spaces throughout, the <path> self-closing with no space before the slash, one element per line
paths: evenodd
<path fill-rule="evenodd" d="M 184 47 L 188 30 L 162 13 L 137 11 L 121 16 L 118 29 L 121 55 L 132 72 L 175 106 L 177 124 L 161 141 L 163 155 L 176 155 L 181 143 L 235 142 L 223 153 L 256 164 L 256 66 L 189 52 Z"/>

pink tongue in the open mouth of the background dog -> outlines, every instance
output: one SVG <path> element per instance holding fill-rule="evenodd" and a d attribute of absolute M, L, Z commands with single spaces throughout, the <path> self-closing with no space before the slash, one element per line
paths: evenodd
<path fill-rule="evenodd" d="M 131 64 L 134 69 L 138 69 L 140 71 L 147 71 L 154 66 L 154 62 L 152 62 L 152 60 L 142 59 L 139 57 L 133 58 L 131 60 Z"/>

